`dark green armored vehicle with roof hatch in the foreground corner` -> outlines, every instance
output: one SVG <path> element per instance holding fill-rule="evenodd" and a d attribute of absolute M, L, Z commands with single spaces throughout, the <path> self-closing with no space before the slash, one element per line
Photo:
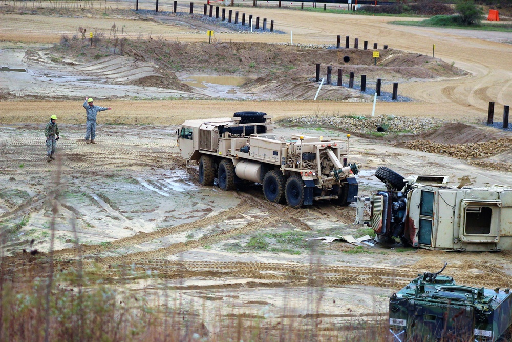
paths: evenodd
<path fill-rule="evenodd" d="M 389 299 L 394 341 L 508 342 L 510 289 L 456 285 L 452 277 L 425 272 Z"/>

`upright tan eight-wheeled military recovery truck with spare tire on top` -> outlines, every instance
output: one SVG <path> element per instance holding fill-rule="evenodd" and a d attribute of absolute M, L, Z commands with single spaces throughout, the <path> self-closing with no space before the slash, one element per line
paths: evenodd
<path fill-rule="evenodd" d="M 330 140 L 274 134 L 271 118 L 261 112 L 234 117 L 186 120 L 178 129 L 181 156 L 199 160 L 199 183 L 233 190 L 237 184 L 263 184 L 265 197 L 293 208 L 316 200 L 340 205 L 355 201 L 358 173 L 347 164 L 349 137 Z"/>

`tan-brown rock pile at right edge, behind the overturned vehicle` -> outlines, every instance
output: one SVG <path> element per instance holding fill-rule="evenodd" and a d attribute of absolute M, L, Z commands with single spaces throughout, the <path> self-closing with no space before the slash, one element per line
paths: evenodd
<path fill-rule="evenodd" d="M 428 140 L 413 140 L 404 144 L 411 150 L 437 153 L 459 159 L 486 158 L 510 149 L 512 138 L 471 144 L 439 144 Z"/>

